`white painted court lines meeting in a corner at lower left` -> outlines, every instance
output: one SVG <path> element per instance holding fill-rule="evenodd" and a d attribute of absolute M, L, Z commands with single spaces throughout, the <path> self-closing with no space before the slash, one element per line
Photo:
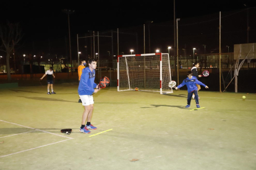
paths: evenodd
<path fill-rule="evenodd" d="M 5 122 L 5 123 L 10 123 L 10 124 L 15 124 L 15 125 L 17 125 L 17 126 L 26 127 L 26 128 L 28 128 L 28 129 L 33 129 L 34 131 L 41 131 L 41 132 L 45 132 L 45 133 L 48 133 L 48 134 L 53 134 L 53 135 L 56 135 L 56 136 L 59 136 L 59 137 L 66 137 L 66 136 L 61 136 L 61 135 L 58 135 L 58 134 L 54 134 L 54 133 L 52 133 L 52 132 L 47 132 L 47 131 L 42 131 L 42 130 L 40 130 L 40 129 L 35 129 L 35 128 L 33 128 L 33 127 L 23 126 L 23 125 L 17 124 L 17 123 L 11 123 L 11 122 L 9 122 L 9 121 L 3 121 L 3 120 L 0 120 L 0 121 Z M 33 132 L 33 131 L 29 131 L 29 132 Z M 28 133 L 28 132 L 23 132 L 23 133 L 19 133 L 19 134 L 25 134 L 25 133 Z M 11 135 L 11 136 L 15 136 L 15 135 L 18 135 L 18 134 L 13 134 L 13 135 Z M 9 136 L 5 136 L 5 137 L 9 137 Z M 3 138 L 3 137 L 0 137 L 0 138 Z M 10 153 L 10 154 L 7 154 L 7 155 L 2 155 L 2 156 L 0 156 L 0 158 L 6 157 L 6 156 L 15 155 L 15 154 L 17 154 L 17 153 L 27 152 L 27 151 L 29 151 L 29 150 L 34 150 L 34 149 L 36 149 L 36 148 L 41 148 L 41 147 L 46 147 L 46 146 L 53 145 L 53 144 L 58 144 L 58 143 L 60 143 L 60 142 L 66 141 L 66 140 L 74 139 L 74 138 L 72 138 L 72 137 L 66 137 L 66 138 L 67 138 L 67 139 L 65 139 L 65 140 L 61 140 L 61 141 L 54 142 L 54 143 L 51 143 L 51 144 L 41 145 L 41 146 L 39 146 L 39 147 L 30 148 L 30 149 L 27 149 L 27 150 L 22 150 L 22 151 L 20 151 L 20 152 L 14 152 L 14 153 Z"/>

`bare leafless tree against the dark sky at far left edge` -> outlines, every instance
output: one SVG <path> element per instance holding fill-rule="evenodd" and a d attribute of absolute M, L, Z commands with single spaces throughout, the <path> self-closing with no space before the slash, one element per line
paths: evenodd
<path fill-rule="evenodd" d="M 10 55 L 14 51 L 15 45 L 22 39 L 19 23 L 7 22 L 7 25 L 0 25 L 1 51 L 6 52 L 7 79 L 11 81 Z"/>

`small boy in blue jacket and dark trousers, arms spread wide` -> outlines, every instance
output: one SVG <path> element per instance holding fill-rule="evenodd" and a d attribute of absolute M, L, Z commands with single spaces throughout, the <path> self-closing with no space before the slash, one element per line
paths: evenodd
<path fill-rule="evenodd" d="M 203 84 L 201 81 L 198 81 L 198 79 L 195 76 L 192 76 L 192 75 L 193 75 L 192 71 L 188 71 L 187 72 L 187 78 L 184 79 L 184 81 L 181 84 L 179 84 L 179 86 L 175 87 L 175 89 L 177 90 L 177 89 L 181 88 L 182 86 L 186 85 L 187 86 L 187 91 L 188 91 L 186 108 L 190 107 L 190 102 L 191 102 L 191 98 L 192 98 L 193 94 L 195 95 L 195 104 L 197 105 L 197 108 L 200 108 L 199 100 L 198 100 L 198 91 L 197 91 L 197 85 L 196 84 L 202 85 L 206 89 L 208 89 L 208 86 Z"/>

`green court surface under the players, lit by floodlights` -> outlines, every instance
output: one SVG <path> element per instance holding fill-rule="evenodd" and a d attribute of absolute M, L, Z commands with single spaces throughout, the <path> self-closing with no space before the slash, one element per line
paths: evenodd
<path fill-rule="evenodd" d="M 77 84 L 46 92 L 0 90 L 0 169 L 256 169 L 255 94 L 199 91 L 195 109 L 185 90 L 106 87 L 93 95 L 98 129 L 83 134 Z"/>

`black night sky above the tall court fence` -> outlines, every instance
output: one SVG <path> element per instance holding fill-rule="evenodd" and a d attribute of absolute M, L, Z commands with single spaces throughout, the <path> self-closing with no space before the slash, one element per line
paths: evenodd
<path fill-rule="evenodd" d="M 177 1 L 176 18 L 189 18 L 219 11 L 256 7 L 255 0 L 235 1 Z M 2 1 L 0 22 L 20 22 L 25 41 L 67 36 L 67 14 L 70 14 L 71 35 L 87 31 L 104 31 L 173 20 L 173 1 Z"/>

